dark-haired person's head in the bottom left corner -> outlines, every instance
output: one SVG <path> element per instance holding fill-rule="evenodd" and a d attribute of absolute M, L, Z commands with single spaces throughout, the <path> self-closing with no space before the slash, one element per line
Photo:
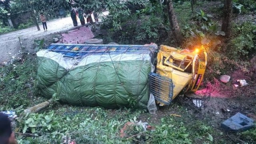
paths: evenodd
<path fill-rule="evenodd" d="M 0 143 L 16 144 L 14 132 L 12 132 L 11 121 L 8 116 L 0 113 Z"/>

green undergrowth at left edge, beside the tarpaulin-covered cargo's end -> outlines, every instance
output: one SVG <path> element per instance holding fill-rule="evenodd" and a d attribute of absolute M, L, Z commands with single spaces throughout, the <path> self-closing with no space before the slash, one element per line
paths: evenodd
<path fill-rule="evenodd" d="M 30 99 L 34 102 L 41 99 L 34 95 L 38 94 L 35 86 L 36 69 L 34 58 L 0 68 L 0 105 L 3 109 L 31 106 L 33 103 Z"/>

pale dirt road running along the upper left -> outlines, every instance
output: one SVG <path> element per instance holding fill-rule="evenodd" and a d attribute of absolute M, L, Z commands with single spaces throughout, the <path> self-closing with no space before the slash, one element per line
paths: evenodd
<path fill-rule="evenodd" d="M 103 16 L 108 15 L 108 11 L 103 12 Z M 94 19 L 94 17 L 92 16 Z M 17 58 L 18 53 L 21 50 L 20 41 L 22 46 L 28 52 L 34 52 L 34 40 L 43 39 L 52 41 L 52 38 L 56 34 L 66 32 L 71 29 L 79 28 L 81 26 L 78 20 L 78 27 L 73 26 L 71 17 L 57 19 L 47 22 L 48 31 L 44 32 L 42 24 L 40 26 L 40 31 L 37 30 L 36 26 L 32 28 L 27 28 L 24 30 L 18 30 L 15 32 L 10 32 L 8 34 L 0 35 L 0 64 L 10 61 L 14 56 Z"/>

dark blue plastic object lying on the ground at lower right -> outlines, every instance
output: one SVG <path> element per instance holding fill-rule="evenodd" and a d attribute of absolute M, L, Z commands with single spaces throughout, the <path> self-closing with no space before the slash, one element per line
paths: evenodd
<path fill-rule="evenodd" d="M 238 112 L 228 120 L 221 123 L 222 128 L 227 131 L 243 131 L 254 127 L 254 121 Z"/>

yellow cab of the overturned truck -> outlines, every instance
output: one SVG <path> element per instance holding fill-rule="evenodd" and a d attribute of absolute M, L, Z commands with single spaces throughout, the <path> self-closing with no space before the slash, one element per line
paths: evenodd
<path fill-rule="evenodd" d="M 207 62 L 206 52 L 204 52 L 203 61 L 198 53 L 199 50 L 179 50 L 170 46 L 160 46 L 157 54 L 156 74 L 169 78 L 173 85 L 172 94 L 160 92 L 160 98 L 156 99 L 160 106 L 168 104 L 168 100 L 176 98 L 181 93 L 196 92 L 204 77 Z"/>

